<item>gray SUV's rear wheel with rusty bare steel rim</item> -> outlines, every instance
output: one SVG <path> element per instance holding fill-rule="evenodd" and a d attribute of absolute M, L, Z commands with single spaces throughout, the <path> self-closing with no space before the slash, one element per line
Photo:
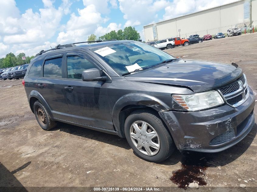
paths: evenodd
<path fill-rule="evenodd" d="M 46 108 L 39 102 L 34 103 L 34 114 L 36 116 L 37 123 L 43 130 L 51 130 L 56 126 L 56 122 L 50 119 L 50 116 Z M 40 120 L 42 117 L 42 120 Z"/>

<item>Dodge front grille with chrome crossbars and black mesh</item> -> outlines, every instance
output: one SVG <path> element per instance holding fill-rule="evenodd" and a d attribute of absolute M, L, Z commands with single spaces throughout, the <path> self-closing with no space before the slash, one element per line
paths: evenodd
<path fill-rule="evenodd" d="M 219 90 L 226 99 L 227 104 L 238 107 L 249 97 L 247 81 L 242 75 L 236 82 L 221 87 Z"/>

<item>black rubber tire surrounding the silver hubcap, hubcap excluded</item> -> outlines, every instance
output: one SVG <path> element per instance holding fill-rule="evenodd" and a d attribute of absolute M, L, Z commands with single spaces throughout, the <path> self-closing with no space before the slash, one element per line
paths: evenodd
<path fill-rule="evenodd" d="M 130 116 L 127 117 L 127 119 L 125 121 L 125 135 L 126 135 L 126 138 L 127 138 L 127 141 L 129 143 L 130 147 L 134 150 L 134 152 L 136 153 L 136 155 L 138 157 L 141 157 L 144 160 L 151 161 L 151 162 L 161 162 L 167 158 L 167 151 L 170 147 L 169 147 L 169 144 L 168 144 L 168 141 L 167 141 L 167 138 L 166 138 L 164 132 L 161 130 L 161 127 L 158 125 L 158 123 L 153 118 L 146 115 L 146 113 L 147 112 L 132 113 Z M 145 121 L 146 123 L 149 123 L 157 132 L 157 134 L 159 136 L 159 140 L 160 140 L 160 149 L 156 155 L 153 155 L 153 156 L 145 155 L 145 154 L 141 153 L 135 147 L 134 143 L 132 142 L 132 140 L 130 138 L 130 126 L 135 121 Z M 172 140 L 171 137 L 169 139 Z"/>

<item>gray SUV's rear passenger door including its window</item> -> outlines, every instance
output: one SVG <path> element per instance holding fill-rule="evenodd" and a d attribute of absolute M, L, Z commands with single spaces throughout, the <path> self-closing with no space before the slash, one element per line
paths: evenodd
<path fill-rule="evenodd" d="M 46 100 L 55 118 L 71 121 L 71 112 L 64 97 L 63 54 L 47 56 L 37 80 L 38 92 Z"/>

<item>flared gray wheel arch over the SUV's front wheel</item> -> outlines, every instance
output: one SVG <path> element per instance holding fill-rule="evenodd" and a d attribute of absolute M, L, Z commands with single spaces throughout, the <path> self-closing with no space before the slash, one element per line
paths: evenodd
<path fill-rule="evenodd" d="M 166 103 L 162 102 L 154 96 L 141 93 L 129 93 L 127 95 L 124 95 L 119 100 L 117 100 L 112 111 L 113 125 L 117 132 L 120 132 L 120 112 L 124 107 L 130 105 L 151 107 L 155 109 L 157 112 L 160 110 L 170 109 Z"/>

